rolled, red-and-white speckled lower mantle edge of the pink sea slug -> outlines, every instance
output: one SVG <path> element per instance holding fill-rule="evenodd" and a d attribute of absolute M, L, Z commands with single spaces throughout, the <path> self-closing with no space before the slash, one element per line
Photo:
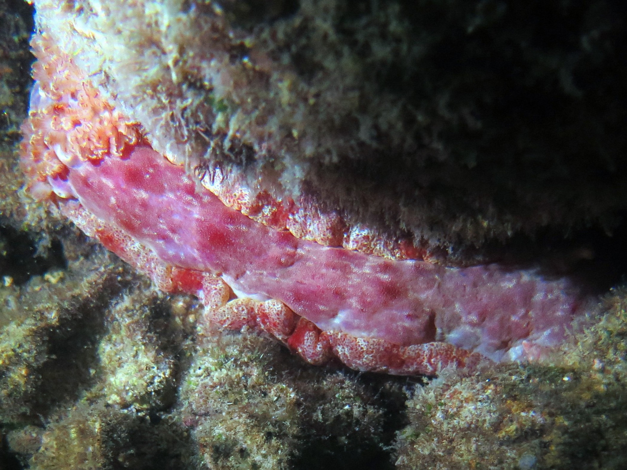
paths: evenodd
<path fill-rule="evenodd" d="M 159 289 L 198 296 L 208 307 L 202 321 L 229 330 L 260 328 L 310 364 L 322 365 L 335 357 L 357 370 L 403 375 L 433 374 L 450 365 L 463 367 L 469 355 L 447 343 L 399 347 L 374 338 L 323 332 L 277 300 L 236 298 L 229 301 L 229 288 L 217 276 L 168 266 L 152 250 L 138 244 L 116 227 L 108 226 L 76 202 L 68 201 L 63 211 L 83 232 L 97 238 L 130 264 L 141 266 Z M 478 355 L 473 357 L 478 360 Z"/>

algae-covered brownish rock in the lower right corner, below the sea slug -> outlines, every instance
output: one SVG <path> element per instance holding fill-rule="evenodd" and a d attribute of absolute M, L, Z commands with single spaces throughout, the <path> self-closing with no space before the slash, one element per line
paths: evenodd
<path fill-rule="evenodd" d="M 397 466 L 623 468 L 625 294 L 606 298 L 608 313 L 559 365 L 500 365 L 419 390 L 408 400 Z"/>

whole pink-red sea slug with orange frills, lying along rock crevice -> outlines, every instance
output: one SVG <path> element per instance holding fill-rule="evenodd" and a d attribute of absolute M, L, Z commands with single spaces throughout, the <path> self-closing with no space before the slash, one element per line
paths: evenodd
<path fill-rule="evenodd" d="M 359 227 L 309 219 L 304 206 L 286 209 L 271 198 L 250 203 L 233 185 L 211 187 L 207 175 L 200 184 L 155 152 L 140 125 L 45 35 L 33 46 L 38 83 L 22 146 L 31 192 L 58 201 L 161 290 L 198 296 L 205 324 L 260 328 L 309 363 L 337 358 L 409 375 L 471 366 L 482 356 L 539 358 L 586 311 L 566 279 L 403 259 L 409 248 L 396 260 L 372 256 L 367 246 L 378 242 Z M 324 244 L 348 239 L 342 245 L 361 244 L 360 251 L 310 241 L 320 224 L 331 234 Z"/>

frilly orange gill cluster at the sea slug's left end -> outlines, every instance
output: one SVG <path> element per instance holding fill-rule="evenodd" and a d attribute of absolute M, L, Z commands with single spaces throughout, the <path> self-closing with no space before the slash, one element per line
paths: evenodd
<path fill-rule="evenodd" d="M 43 197 L 38 183 L 66 180 L 72 162 L 121 158 L 144 140 L 139 124 L 115 110 L 45 33 L 31 45 L 46 60 L 33 65 L 31 112 L 22 128 L 22 151 L 29 157 L 22 163 L 31 189 Z"/>

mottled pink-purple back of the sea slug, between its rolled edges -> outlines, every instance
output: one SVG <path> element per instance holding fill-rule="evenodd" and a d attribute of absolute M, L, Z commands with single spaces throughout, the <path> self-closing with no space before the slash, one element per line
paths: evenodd
<path fill-rule="evenodd" d="M 221 274 L 235 290 L 281 300 L 326 331 L 398 345 L 446 341 L 517 359 L 530 345 L 559 344 L 582 312 L 564 279 L 390 261 L 302 241 L 224 206 L 149 147 L 76 164 L 63 191 L 68 185 L 88 211 L 166 263 Z"/>

